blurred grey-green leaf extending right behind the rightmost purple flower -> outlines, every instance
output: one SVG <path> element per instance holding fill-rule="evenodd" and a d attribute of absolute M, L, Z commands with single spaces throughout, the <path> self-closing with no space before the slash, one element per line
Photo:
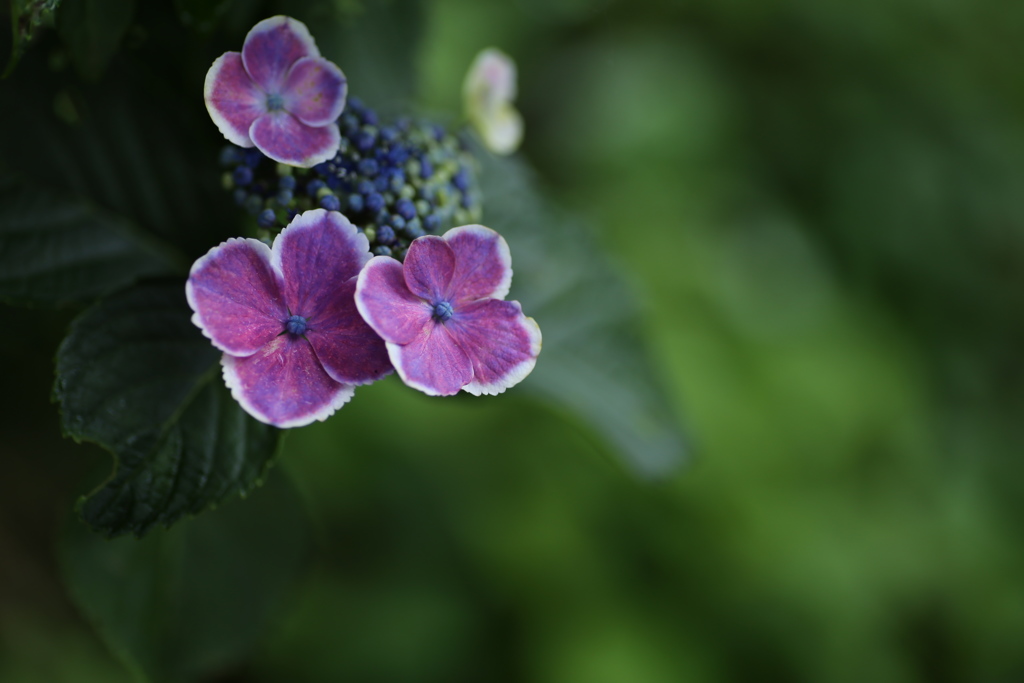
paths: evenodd
<path fill-rule="evenodd" d="M 636 301 L 588 230 L 539 197 L 525 165 L 479 156 L 484 223 L 512 249 L 509 298 L 544 334 L 523 388 L 589 421 L 637 473 L 669 472 L 685 446 L 647 356 Z"/>

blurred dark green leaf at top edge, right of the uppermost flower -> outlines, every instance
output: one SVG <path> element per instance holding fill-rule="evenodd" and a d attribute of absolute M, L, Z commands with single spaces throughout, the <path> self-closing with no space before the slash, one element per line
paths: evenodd
<path fill-rule="evenodd" d="M 416 95 L 416 55 L 425 25 L 420 0 L 307 0 L 282 3 L 281 9 L 306 23 L 324 56 L 348 78 L 349 95 L 388 117 L 408 110 Z"/>

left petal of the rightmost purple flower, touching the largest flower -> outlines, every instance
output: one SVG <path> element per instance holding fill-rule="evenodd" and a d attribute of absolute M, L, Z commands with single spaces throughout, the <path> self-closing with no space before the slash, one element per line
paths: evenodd
<path fill-rule="evenodd" d="M 362 268 L 355 305 L 377 334 L 395 344 L 408 344 L 431 324 L 430 304 L 409 291 L 401 263 L 390 256 L 375 256 Z"/>

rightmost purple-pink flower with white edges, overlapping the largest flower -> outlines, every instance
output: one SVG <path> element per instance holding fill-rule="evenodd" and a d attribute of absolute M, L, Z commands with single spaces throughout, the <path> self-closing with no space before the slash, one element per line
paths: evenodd
<path fill-rule="evenodd" d="M 498 394 L 525 378 L 541 329 L 518 301 L 508 244 L 482 225 L 415 240 L 404 265 L 376 256 L 359 273 L 355 305 L 387 342 L 402 381 L 434 396 Z"/>

